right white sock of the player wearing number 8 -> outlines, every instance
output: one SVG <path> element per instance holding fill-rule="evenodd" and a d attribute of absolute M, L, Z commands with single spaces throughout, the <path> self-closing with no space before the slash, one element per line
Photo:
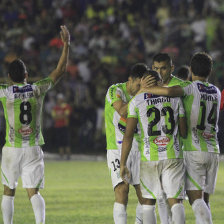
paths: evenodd
<path fill-rule="evenodd" d="M 34 194 L 30 202 L 36 219 L 36 224 L 45 223 L 45 202 L 40 194 Z"/>

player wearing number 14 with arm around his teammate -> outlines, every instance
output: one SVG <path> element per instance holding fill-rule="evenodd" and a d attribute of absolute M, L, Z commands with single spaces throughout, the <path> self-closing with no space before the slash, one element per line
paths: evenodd
<path fill-rule="evenodd" d="M 214 193 L 220 151 L 217 132 L 221 93 L 207 82 L 212 64 L 207 53 L 198 52 L 190 63 L 193 82 L 144 90 L 163 96 L 184 96 L 188 126 L 184 140 L 186 190 L 197 223 L 204 224 L 212 223 L 209 195 Z"/>

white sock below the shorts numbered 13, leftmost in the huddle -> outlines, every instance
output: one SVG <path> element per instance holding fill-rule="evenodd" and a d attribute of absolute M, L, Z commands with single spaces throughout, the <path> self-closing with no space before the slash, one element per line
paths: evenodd
<path fill-rule="evenodd" d="M 127 212 L 126 206 L 120 203 L 114 203 L 114 223 L 115 224 L 126 224 L 127 223 Z"/>

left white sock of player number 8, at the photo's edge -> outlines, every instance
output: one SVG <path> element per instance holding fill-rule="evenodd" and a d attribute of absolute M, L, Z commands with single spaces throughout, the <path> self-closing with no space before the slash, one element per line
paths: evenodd
<path fill-rule="evenodd" d="M 12 224 L 14 213 L 14 197 L 3 195 L 1 207 L 4 224 Z"/>

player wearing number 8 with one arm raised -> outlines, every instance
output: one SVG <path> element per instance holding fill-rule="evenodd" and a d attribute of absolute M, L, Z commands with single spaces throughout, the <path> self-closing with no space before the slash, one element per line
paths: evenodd
<path fill-rule="evenodd" d="M 61 26 L 64 44 L 58 65 L 49 77 L 28 84 L 28 73 L 22 60 L 9 64 L 11 85 L 0 85 L 0 101 L 6 120 L 6 143 L 2 149 L 2 214 L 4 224 L 13 223 L 14 196 L 21 176 L 23 187 L 33 207 L 36 223 L 45 223 L 45 202 L 39 193 L 44 185 L 44 162 L 41 145 L 41 114 L 46 92 L 66 71 L 70 35 L 66 26 Z"/>

